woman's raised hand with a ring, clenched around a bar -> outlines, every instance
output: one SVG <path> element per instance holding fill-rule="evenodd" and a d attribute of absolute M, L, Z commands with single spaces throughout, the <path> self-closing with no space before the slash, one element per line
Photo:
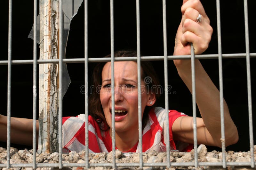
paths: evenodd
<path fill-rule="evenodd" d="M 199 0 L 183 0 L 181 6 L 182 18 L 175 38 L 173 55 L 190 55 L 190 44 L 193 43 L 195 54 L 203 53 L 212 37 L 212 27 L 204 7 Z M 201 22 L 196 18 L 201 14 Z M 174 60 L 180 64 L 181 60 Z"/>

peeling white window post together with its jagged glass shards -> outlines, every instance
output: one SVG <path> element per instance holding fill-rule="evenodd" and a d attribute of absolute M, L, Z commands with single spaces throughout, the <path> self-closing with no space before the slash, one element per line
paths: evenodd
<path fill-rule="evenodd" d="M 83 0 L 63 0 L 63 42 L 68 40 L 68 32 L 72 18 L 77 14 Z M 58 59 L 58 0 L 40 0 L 37 16 L 36 42 L 40 48 L 40 59 Z M 34 38 L 33 27 L 28 38 Z M 65 54 L 66 45 L 62 53 Z M 64 55 L 65 56 L 65 55 Z M 64 57 L 65 58 L 65 57 Z M 67 65 L 63 66 L 62 97 L 65 95 L 70 78 Z M 39 136 L 38 153 L 58 152 L 58 64 L 39 64 Z"/>

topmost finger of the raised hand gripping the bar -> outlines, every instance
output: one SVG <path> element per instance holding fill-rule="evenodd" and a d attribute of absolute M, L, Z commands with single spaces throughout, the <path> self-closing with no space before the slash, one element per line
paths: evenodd
<path fill-rule="evenodd" d="M 188 0 L 186 3 L 184 3 L 181 6 L 181 13 L 184 14 L 187 8 L 194 8 L 195 10 L 197 10 L 202 16 L 204 16 L 205 18 L 208 18 L 205 11 L 204 11 L 204 7 L 201 4 L 200 0 Z"/>

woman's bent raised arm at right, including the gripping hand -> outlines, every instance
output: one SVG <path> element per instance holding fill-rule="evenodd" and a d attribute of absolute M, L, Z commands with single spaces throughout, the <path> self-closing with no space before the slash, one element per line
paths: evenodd
<path fill-rule="evenodd" d="M 212 27 L 204 7 L 199 0 L 183 0 L 182 19 L 178 28 L 174 55 L 190 55 L 190 43 L 195 54 L 203 53 L 212 36 Z M 196 22 L 199 15 L 200 23 Z M 192 93 L 191 61 L 174 60 L 177 71 Z M 195 60 L 196 103 L 202 118 L 197 118 L 197 138 L 199 144 L 221 147 L 220 92 L 205 72 L 199 60 Z M 224 125 L 226 146 L 237 142 L 238 133 L 224 100 Z M 193 117 L 179 117 L 173 123 L 172 131 L 176 140 L 193 143 Z"/>

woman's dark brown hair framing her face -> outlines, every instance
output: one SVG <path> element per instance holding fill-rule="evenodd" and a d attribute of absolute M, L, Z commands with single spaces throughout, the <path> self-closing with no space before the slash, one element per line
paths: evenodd
<path fill-rule="evenodd" d="M 114 53 L 114 57 L 134 57 L 137 56 L 137 52 L 135 51 L 116 51 Z M 111 55 L 107 55 L 105 57 L 111 57 Z M 100 62 L 98 63 L 92 72 L 92 84 L 93 84 L 93 91 L 92 94 L 89 96 L 89 113 L 95 119 L 101 119 L 106 124 L 106 119 L 104 116 L 104 112 L 100 102 L 100 88 L 102 82 L 102 69 L 107 62 Z M 150 61 L 141 61 L 140 66 L 142 68 L 142 75 L 141 79 L 144 80 L 145 77 L 149 77 L 149 82 L 146 83 L 147 88 L 150 89 L 148 93 L 152 93 L 156 95 L 156 98 L 160 96 L 159 93 L 156 92 L 156 88 L 151 88 L 152 86 L 158 86 L 159 81 L 156 75 L 156 72 L 151 64 Z M 154 108 L 156 103 L 152 106 L 146 106 L 144 110 L 144 114 L 142 117 L 142 126 L 144 127 L 147 123 L 148 119 L 148 112 L 151 108 Z M 102 127 L 101 127 L 102 128 Z M 105 130 L 105 129 L 104 129 Z"/>

